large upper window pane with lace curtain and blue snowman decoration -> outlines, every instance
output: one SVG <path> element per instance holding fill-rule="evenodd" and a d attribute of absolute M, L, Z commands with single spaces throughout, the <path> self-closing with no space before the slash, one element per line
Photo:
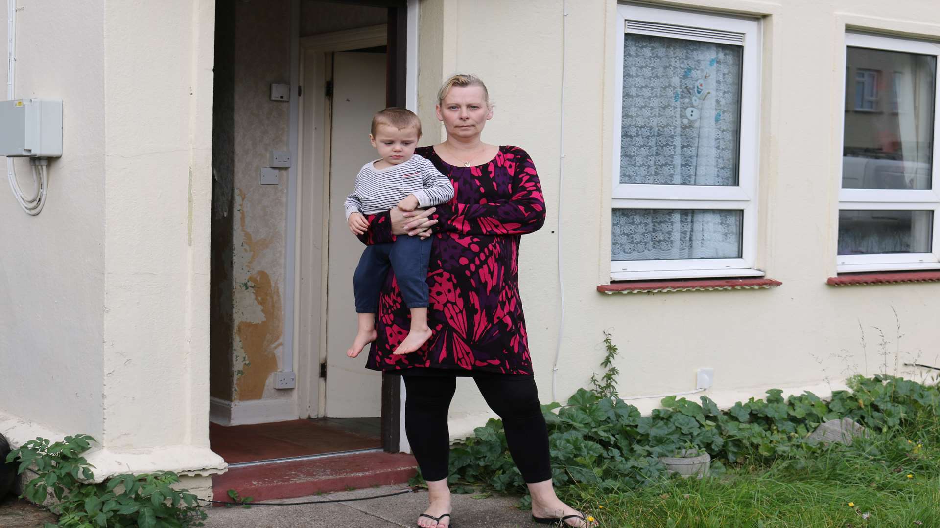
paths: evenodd
<path fill-rule="evenodd" d="M 627 34 L 620 183 L 737 185 L 742 48 Z"/>

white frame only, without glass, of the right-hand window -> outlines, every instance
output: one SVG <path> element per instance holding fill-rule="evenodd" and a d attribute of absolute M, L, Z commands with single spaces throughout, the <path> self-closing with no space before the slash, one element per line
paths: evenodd
<path fill-rule="evenodd" d="M 847 32 L 845 34 L 845 68 L 848 76 L 849 48 L 932 55 L 940 70 L 940 43 L 926 40 L 902 39 Z M 847 83 L 843 83 L 847 85 Z M 843 87 L 843 89 L 846 89 Z M 847 94 L 843 94 L 845 101 Z M 839 113 L 842 122 L 839 130 L 838 149 L 838 210 L 930 210 L 932 211 L 931 253 L 885 253 L 873 255 L 838 255 L 838 214 L 836 220 L 836 271 L 847 272 L 900 272 L 912 270 L 940 269 L 940 161 L 937 160 L 937 141 L 940 140 L 940 74 L 934 72 L 933 79 L 933 148 L 931 154 L 930 189 L 843 189 L 842 160 L 845 152 L 845 115 Z"/>

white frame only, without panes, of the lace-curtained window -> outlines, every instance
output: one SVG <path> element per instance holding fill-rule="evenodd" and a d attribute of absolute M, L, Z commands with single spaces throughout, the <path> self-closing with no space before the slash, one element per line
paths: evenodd
<path fill-rule="evenodd" d="M 621 4 L 617 10 L 617 47 L 614 75 L 613 178 L 611 223 L 613 210 L 741 210 L 740 258 L 688 258 L 661 260 L 614 260 L 611 255 L 612 280 L 643 280 L 701 277 L 756 277 L 764 272 L 755 269 L 758 246 L 758 173 L 760 166 L 760 20 L 731 15 L 706 14 L 670 8 L 648 8 Z M 735 33 L 742 36 L 741 108 L 738 137 L 738 185 L 657 185 L 620 183 L 620 141 L 623 111 L 623 43 L 628 32 L 627 21 L 666 23 L 697 29 Z M 630 31 L 640 35 L 662 36 L 721 44 L 725 39 L 710 38 L 701 32 L 695 38 L 654 31 Z M 612 241 L 613 244 L 613 241 Z M 611 246 L 613 250 L 613 245 Z"/>

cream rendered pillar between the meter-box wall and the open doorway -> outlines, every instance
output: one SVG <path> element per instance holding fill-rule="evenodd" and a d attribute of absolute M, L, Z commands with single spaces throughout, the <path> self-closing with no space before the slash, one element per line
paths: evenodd
<path fill-rule="evenodd" d="M 225 467 L 208 431 L 213 26 L 211 0 L 104 7 L 98 478 Z"/>

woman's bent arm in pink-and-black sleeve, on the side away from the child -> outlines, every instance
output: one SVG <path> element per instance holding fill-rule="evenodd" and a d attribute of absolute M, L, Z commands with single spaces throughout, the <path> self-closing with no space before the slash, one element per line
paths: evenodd
<path fill-rule="evenodd" d="M 521 235 L 537 231 L 545 224 L 545 200 L 535 163 L 522 148 L 514 148 L 504 155 L 507 158 L 505 163 L 513 165 L 512 197 L 486 204 L 453 201 L 441 204 L 436 215 L 440 225 L 435 231 L 456 231 L 466 235 Z"/>

